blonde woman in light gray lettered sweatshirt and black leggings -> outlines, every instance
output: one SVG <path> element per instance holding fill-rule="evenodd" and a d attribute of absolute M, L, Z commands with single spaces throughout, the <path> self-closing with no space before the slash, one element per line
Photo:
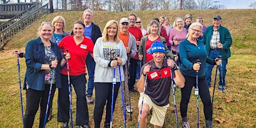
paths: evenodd
<path fill-rule="evenodd" d="M 119 78 L 121 77 L 122 82 L 124 80 L 123 69 L 120 68 L 120 76 L 118 64 L 122 67 L 127 60 L 127 55 L 123 42 L 119 39 L 118 32 L 118 22 L 109 20 L 103 29 L 102 37 L 96 40 L 93 49 L 93 57 L 96 63 L 94 70 L 95 106 L 93 112 L 95 127 L 100 127 L 105 104 L 106 115 L 104 127 L 109 127 L 110 125 L 113 67 L 115 67 L 116 78 L 113 109 L 120 86 Z"/>

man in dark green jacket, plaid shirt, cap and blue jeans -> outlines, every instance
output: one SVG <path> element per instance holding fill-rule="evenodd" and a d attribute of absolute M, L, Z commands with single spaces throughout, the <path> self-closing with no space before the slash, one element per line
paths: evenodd
<path fill-rule="evenodd" d="M 203 43 L 205 44 L 205 49 L 207 56 L 210 58 L 217 58 L 221 55 L 222 66 L 218 66 L 220 70 L 222 68 L 222 78 L 221 73 L 219 73 L 219 90 L 225 89 L 225 74 L 226 74 L 226 64 L 227 58 L 231 56 L 230 46 L 232 44 L 232 37 L 228 29 L 221 25 L 221 16 L 215 15 L 212 19 L 212 24 L 206 28 L 203 35 Z M 206 63 L 205 77 L 208 82 L 208 87 L 210 87 L 211 81 L 211 70 L 214 65 Z"/>

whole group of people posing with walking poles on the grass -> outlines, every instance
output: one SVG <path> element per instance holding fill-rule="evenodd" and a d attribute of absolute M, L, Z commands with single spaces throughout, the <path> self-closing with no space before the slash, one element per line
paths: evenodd
<path fill-rule="evenodd" d="M 25 57 L 27 66 L 23 85 L 26 90 L 25 128 L 32 127 L 39 105 L 39 127 L 43 127 L 50 88 L 47 121 L 51 119 L 52 99 L 55 88 L 58 88 L 57 121 L 63 122 L 63 128 L 68 127 L 69 121 L 72 122 L 72 87 L 76 94 L 75 125 L 89 127 L 87 103 L 94 103 L 94 127 L 100 127 L 105 106 L 104 127 L 110 127 L 118 91 L 124 93 L 123 109 L 128 113 L 132 113 L 129 92 L 138 91 L 139 127 L 146 127 L 150 110 L 150 123 L 162 127 L 169 106 L 171 77 L 176 84 L 184 85 L 180 101 L 181 125 L 190 127 L 187 105 L 192 86 L 196 87 L 196 72 L 206 127 L 212 127 L 208 89 L 211 70 L 221 63 L 218 66 L 223 70 L 219 89 L 225 89 L 226 64 L 232 43 L 228 29 L 221 25 L 220 15 L 215 15 L 212 25 L 207 28 L 202 17 L 191 23 L 191 14 L 185 15 L 184 20 L 176 17 L 173 24 L 169 24 L 169 17 L 161 16 L 153 18 L 145 30 L 142 20 L 135 13 L 129 13 L 119 21 L 107 21 L 102 33 L 91 22 L 91 10 L 85 9 L 82 17 L 83 22 L 73 23 L 71 34 L 64 31 L 66 23 L 62 16 L 54 17 L 52 22 L 41 22 L 38 37 L 27 43 L 25 53 L 15 52 L 16 57 Z M 86 68 L 89 75 L 87 90 Z M 175 70 L 180 70 L 181 74 Z M 185 80 L 180 81 L 179 75 Z M 139 77 L 137 83 L 136 77 Z M 92 98 L 93 88 L 95 100 Z"/>

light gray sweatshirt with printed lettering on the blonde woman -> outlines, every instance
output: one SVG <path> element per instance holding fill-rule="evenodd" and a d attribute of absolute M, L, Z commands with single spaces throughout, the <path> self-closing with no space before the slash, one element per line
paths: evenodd
<path fill-rule="evenodd" d="M 114 55 L 113 55 L 114 54 Z M 120 65 L 121 80 L 124 81 L 122 65 L 127 60 L 126 49 L 123 42 L 117 44 L 115 42 L 103 42 L 102 37 L 99 37 L 93 48 L 93 57 L 96 63 L 94 70 L 94 82 L 112 82 L 113 81 L 113 67 L 109 67 L 110 58 L 119 56 L 122 58 Z M 116 82 L 120 81 L 118 65 L 115 67 Z"/>

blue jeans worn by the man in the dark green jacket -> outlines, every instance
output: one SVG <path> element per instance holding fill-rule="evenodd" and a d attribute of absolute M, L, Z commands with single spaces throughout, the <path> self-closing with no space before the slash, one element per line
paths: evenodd
<path fill-rule="evenodd" d="M 209 51 L 209 57 L 210 58 L 217 58 L 218 56 L 220 55 L 220 51 L 219 49 L 210 49 Z M 227 58 L 225 59 L 221 59 L 222 62 L 222 79 L 221 79 L 221 72 L 219 73 L 219 82 L 218 84 L 219 85 L 222 85 L 222 86 L 225 86 L 225 76 L 226 76 L 226 64 L 227 64 Z M 208 83 L 208 87 L 210 87 L 210 81 L 211 81 L 211 71 L 212 71 L 212 67 L 214 65 L 211 65 L 211 64 L 208 64 L 206 63 L 206 66 L 205 66 L 205 77 L 206 77 L 206 80 L 207 80 L 207 83 Z M 221 66 L 219 65 L 218 66 L 218 70 L 221 71 Z"/>

